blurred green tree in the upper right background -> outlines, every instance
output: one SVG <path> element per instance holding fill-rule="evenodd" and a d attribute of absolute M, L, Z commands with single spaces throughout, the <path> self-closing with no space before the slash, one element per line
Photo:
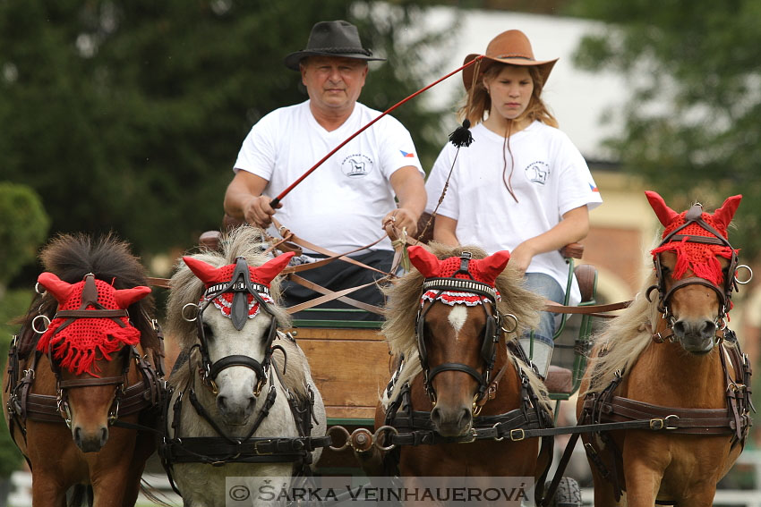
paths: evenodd
<path fill-rule="evenodd" d="M 761 236 L 761 3 L 757 0 L 577 0 L 607 23 L 577 63 L 628 77 L 625 129 L 609 146 L 675 209 L 742 193 L 733 245 L 756 258 Z M 594 100 L 594 97 L 588 97 Z"/>

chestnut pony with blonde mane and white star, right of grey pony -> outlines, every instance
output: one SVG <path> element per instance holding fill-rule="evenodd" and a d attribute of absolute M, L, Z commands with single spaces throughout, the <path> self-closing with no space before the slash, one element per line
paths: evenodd
<path fill-rule="evenodd" d="M 387 289 L 382 334 L 403 361 L 376 411 L 376 427 L 394 428 L 386 444 L 397 445 L 384 472 L 407 486 L 417 477 L 539 478 L 552 447 L 540 455 L 539 440 L 521 431 L 552 426 L 552 414 L 516 338 L 543 300 L 505 270 L 507 251 L 428 248 L 410 247 L 416 269 Z M 380 475 L 378 458 L 364 465 Z"/>

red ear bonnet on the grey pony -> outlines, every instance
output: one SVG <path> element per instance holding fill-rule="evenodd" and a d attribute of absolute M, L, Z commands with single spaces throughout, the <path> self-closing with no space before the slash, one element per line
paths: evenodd
<path fill-rule="evenodd" d="M 286 254 L 265 262 L 261 266 L 248 266 L 252 283 L 263 285 L 269 289 L 269 283 L 271 283 L 272 280 L 286 268 L 288 261 L 290 261 L 292 257 L 294 257 L 294 252 L 287 252 Z M 201 282 L 206 284 L 207 289 L 219 283 L 229 283 L 232 281 L 233 274 L 235 273 L 235 264 L 214 267 L 197 258 L 184 257 L 183 260 L 193 274 L 198 276 Z M 269 296 L 269 292 L 259 292 L 259 295 L 262 300 L 268 303 L 274 303 Z M 214 306 L 219 308 L 225 317 L 232 318 L 234 296 L 234 292 L 223 292 L 218 294 L 218 296 L 214 297 L 212 300 Z M 204 300 L 206 300 L 206 296 L 201 298 L 201 301 Z M 252 294 L 248 294 L 248 318 L 256 317 L 259 314 L 259 310 L 259 301 L 255 300 Z"/>

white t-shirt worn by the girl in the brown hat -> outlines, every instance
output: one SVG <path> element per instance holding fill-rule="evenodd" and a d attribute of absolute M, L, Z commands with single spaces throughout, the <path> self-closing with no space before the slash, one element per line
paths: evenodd
<path fill-rule="evenodd" d="M 584 157 L 562 131 L 534 122 L 510 136 L 507 146 L 483 123 L 471 133 L 474 143 L 458 154 L 451 144 L 441 150 L 425 185 L 425 210 L 432 213 L 457 156 L 437 214 L 457 220 L 461 244 L 481 246 L 490 254 L 511 251 L 552 229 L 571 209 L 586 205 L 592 210 L 603 202 Z M 517 202 L 503 180 L 509 181 Z M 551 275 L 565 291 L 569 266 L 560 252 L 534 256 L 526 271 Z M 570 304 L 578 300 L 574 281 Z"/>

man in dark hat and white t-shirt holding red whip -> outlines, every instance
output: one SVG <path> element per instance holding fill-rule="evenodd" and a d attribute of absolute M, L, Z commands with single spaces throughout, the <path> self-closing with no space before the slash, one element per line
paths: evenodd
<path fill-rule="evenodd" d="M 378 240 L 389 221 L 415 234 L 426 200 L 423 171 L 409 132 L 388 115 L 330 156 L 282 203 L 270 206 L 282 190 L 381 114 L 357 102 L 372 60 L 383 58 L 363 48 L 351 23 L 314 25 L 306 49 L 285 60 L 286 67 L 301 72 L 309 100 L 281 107 L 253 126 L 227 187 L 227 215 L 266 228 L 277 211 L 278 221 L 296 236 L 338 253 Z M 274 228 L 270 232 L 277 234 Z M 393 249 L 386 238 L 355 258 L 388 272 Z M 342 261 L 300 275 L 331 291 L 372 283 L 380 276 Z M 288 306 L 319 295 L 295 283 L 288 283 L 284 294 Z M 383 302 L 373 286 L 349 296 L 374 305 Z M 346 308 L 336 302 L 329 306 Z"/>

